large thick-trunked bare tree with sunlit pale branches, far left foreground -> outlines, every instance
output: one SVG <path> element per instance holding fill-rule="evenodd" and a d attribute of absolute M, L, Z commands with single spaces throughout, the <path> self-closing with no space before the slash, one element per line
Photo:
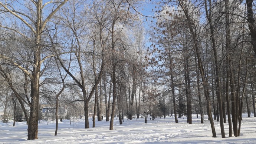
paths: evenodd
<path fill-rule="evenodd" d="M 26 74 L 27 77 L 30 78 L 31 80 L 31 100 L 29 106 L 30 106 L 30 117 L 29 117 L 29 122 L 28 122 L 28 138 L 27 140 L 34 140 L 37 139 L 37 133 L 38 133 L 38 107 L 39 107 L 39 81 L 40 81 L 40 76 L 41 76 L 41 65 L 43 61 L 46 60 L 46 57 L 43 57 L 42 54 L 42 48 L 43 48 L 43 41 L 42 41 L 42 36 L 43 32 L 46 29 L 46 24 L 48 21 L 53 17 L 53 15 L 62 7 L 68 0 L 64 0 L 60 3 L 55 2 L 55 1 L 49 1 L 43 4 L 43 0 L 38 0 L 38 1 L 30 1 L 30 3 L 27 3 L 24 1 L 26 4 L 31 7 L 31 9 L 27 9 L 31 13 L 35 14 L 33 16 L 27 15 L 25 12 L 22 12 L 23 9 L 20 10 L 15 10 L 14 7 L 12 7 L 12 3 L 4 3 L 0 2 L 0 5 L 2 7 L 1 11 L 6 11 L 10 14 L 13 15 L 14 19 L 17 20 L 17 24 L 24 24 L 26 26 L 25 29 L 29 28 L 30 29 L 30 34 L 32 34 L 33 39 L 26 37 L 26 34 L 13 29 L 12 27 L 9 26 L 1 26 L 3 28 L 15 31 L 17 34 L 20 34 L 27 40 L 29 40 L 29 44 L 31 43 L 30 50 L 33 53 L 33 58 L 32 58 L 32 67 L 33 70 L 31 70 L 32 73 L 30 73 L 29 69 L 26 67 L 23 67 L 20 65 L 20 61 L 18 59 L 13 59 L 12 57 L 6 56 L 6 55 L 0 55 L 1 59 L 6 60 L 9 64 L 12 64 L 19 68 L 24 74 Z M 44 16 L 43 15 L 43 8 L 47 4 L 52 4 L 50 8 L 52 8 L 51 13 L 48 15 Z M 55 5 L 57 4 L 57 5 Z M 24 6 L 24 8 L 27 6 Z M 33 8 L 32 8 L 33 7 Z M 43 18 L 45 17 L 45 19 Z M 44 20 L 43 20 L 44 19 Z M 29 20 L 29 21 L 28 21 Z M 19 21 L 19 22 L 18 22 Z M 8 80 L 8 77 L 6 77 L 6 80 Z M 9 83 L 10 87 L 12 87 L 12 84 Z M 16 90 L 13 88 L 12 89 L 16 97 L 19 97 L 19 94 L 17 94 Z M 19 100 L 21 103 L 21 100 Z"/>

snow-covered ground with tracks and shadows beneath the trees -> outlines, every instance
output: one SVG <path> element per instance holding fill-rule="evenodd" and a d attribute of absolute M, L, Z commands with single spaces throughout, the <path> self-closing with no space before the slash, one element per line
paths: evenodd
<path fill-rule="evenodd" d="M 253 115 L 252 115 L 253 116 Z M 58 135 L 54 136 L 55 123 L 42 122 L 39 124 L 37 140 L 27 141 L 26 122 L 0 123 L 0 144 L 98 144 L 98 143 L 168 143 L 168 144 L 256 144 L 256 118 L 243 117 L 240 137 L 228 137 L 229 126 L 225 125 L 226 138 L 221 138 L 220 125 L 214 121 L 217 138 L 211 137 L 211 127 L 207 116 L 205 126 L 200 118 L 193 115 L 193 124 L 186 123 L 179 118 L 175 123 L 173 117 L 156 118 L 144 124 L 144 120 L 125 119 L 122 125 L 119 120 L 114 121 L 114 130 L 109 130 L 109 122 L 96 121 L 95 128 L 84 128 L 83 121 L 59 122 Z M 92 121 L 90 121 L 92 127 Z"/>

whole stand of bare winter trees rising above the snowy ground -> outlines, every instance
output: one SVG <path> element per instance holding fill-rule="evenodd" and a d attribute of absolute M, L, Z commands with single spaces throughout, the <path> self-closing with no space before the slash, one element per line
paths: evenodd
<path fill-rule="evenodd" d="M 98 121 L 110 117 L 109 130 L 115 116 L 122 124 L 125 115 L 145 123 L 186 115 L 192 124 L 192 113 L 201 123 L 208 114 L 213 137 L 217 118 L 223 138 L 227 122 L 229 136 L 240 135 L 244 105 L 256 117 L 252 0 L 154 1 L 154 16 L 140 12 L 139 0 L 0 5 L 3 122 L 8 110 L 13 125 L 24 116 L 27 140 L 37 139 L 42 109 L 55 113 L 55 135 L 60 113 L 70 119 L 74 108 L 85 128 L 90 113 L 92 127 L 96 114 Z"/>

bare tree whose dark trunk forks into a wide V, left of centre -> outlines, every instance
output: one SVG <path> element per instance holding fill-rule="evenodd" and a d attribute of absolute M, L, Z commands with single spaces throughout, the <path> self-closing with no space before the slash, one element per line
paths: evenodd
<path fill-rule="evenodd" d="M 66 66 L 62 60 L 62 57 L 58 57 L 60 66 L 66 71 L 66 73 L 68 73 L 68 75 L 75 81 L 76 85 L 79 87 L 79 89 L 82 92 L 83 95 L 83 102 L 84 102 L 84 112 L 85 112 L 85 128 L 89 128 L 89 116 L 88 116 L 88 107 L 89 107 L 89 102 L 92 98 L 92 95 L 96 89 L 96 87 L 99 84 L 99 81 L 101 80 L 101 76 L 104 70 L 104 60 L 102 59 L 102 61 L 100 61 L 100 70 L 98 72 L 98 77 L 95 79 L 96 81 L 94 81 L 94 83 L 91 84 L 91 91 L 89 91 L 89 93 L 86 93 L 86 81 L 89 81 L 90 77 L 87 77 L 88 79 L 86 80 L 85 77 L 85 71 L 88 72 L 88 67 L 85 67 L 86 64 L 90 63 L 90 60 L 87 60 L 87 53 L 91 53 L 93 52 L 93 49 L 90 49 L 91 47 L 88 46 L 88 44 L 90 44 L 91 40 L 93 40 L 92 38 L 89 39 L 89 41 L 83 41 L 85 37 L 83 37 L 85 33 L 89 32 L 89 31 L 85 31 L 85 27 L 86 25 L 82 25 L 85 21 L 84 17 L 85 17 L 85 11 L 81 11 L 81 9 L 79 9 L 79 7 L 82 6 L 82 1 L 76 2 L 76 1 L 71 1 L 69 6 L 71 6 L 71 10 L 72 11 L 67 11 L 68 9 L 62 9 L 64 14 L 64 18 L 62 19 L 63 22 L 63 29 L 65 30 L 66 28 L 68 28 L 66 30 L 66 34 L 68 35 L 71 31 L 71 34 L 73 35 L 74 39 L 70 39 L 68 41 L 68 43 L 70 43 L 70 51 L 69 53 L 71 53 L 73 50 L 74 55 L 70 54 L 69 57 L 69 61 L 71 60 L 71 57 L 75 57 L 75 61 L 72 61 L 70 63 L 74 63 L 75 65 L 78 66 L 78 71 L 79 71 L 79 79 L 78 77 L 76 77 L 74 74 L 72 73 L 72 68 L 69 68 L 69 65 Z M 79 15 L 79 17 L 75 16 L 75 13 L 78 12 L 81 14 Z M 93 27 L 91 27 L 91 29 L 93 29 Z M 90 30 L 91 30 L 90 29 Z M 92 30 L 91 30 L 92 31 Z M 88 37 L 91 37 L 88 34 L 85 34 Z M 87 44 L 87 45 L 86 45 Z M 85 47 L 84 47 L 85 46 Z M 101 51 L 101 56 L 102 58 L 104 57 L 104 47 L 101 47 L 102 49 L 99 49 L 99 51 Z M 86 52 L 83 52 L 85 50 L 88 50 Z M 90 51 L 92 50 L 92 51 Z M 57 51 L 55 51 L 55 53 L 57 53 Z M 94 56 L 95 53 L 92 53 L 91 56 Z M 75 67 L 74 67 L 75 68 Z M 93 68 L 92 68 L 93 69 Z M 76 68 L 74 69 L 76 71 Z"/>

